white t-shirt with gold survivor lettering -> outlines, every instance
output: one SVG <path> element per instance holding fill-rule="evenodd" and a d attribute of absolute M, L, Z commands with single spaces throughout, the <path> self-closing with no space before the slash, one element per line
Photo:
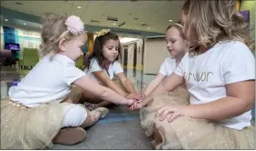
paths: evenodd
<path fill-rule="evenodd" d="M 190 104 L 205 104 L 226 97 L 225 85 L 255 79 L 255 58 L 247 45 L 227 41 L 201 55 L 186 54 L 175 73 L 186 80 Z M 219 123 L 240 130 L 251 126 L 250 121 L 251 110 Z"/>

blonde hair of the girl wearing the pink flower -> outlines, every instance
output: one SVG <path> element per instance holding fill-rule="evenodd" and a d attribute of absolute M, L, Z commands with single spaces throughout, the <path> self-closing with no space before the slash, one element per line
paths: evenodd
<path fill-rule="evenodd" d="M 42 17 L 42 43 L 39 46 L 39 56 L 50 55 L 50 59 L 59 51 L 59 41 L 63 38 L 70 40 L 72 35 L 65 22 L 68 15 L 46 14 Z"/>

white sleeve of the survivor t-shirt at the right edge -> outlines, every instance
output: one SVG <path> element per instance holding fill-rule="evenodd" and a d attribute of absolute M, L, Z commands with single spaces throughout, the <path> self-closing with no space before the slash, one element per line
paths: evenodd
<path fill-rule="evenodd" d="M 223 59 L 225 85 L 255 79 L 255 58 L 249 47 L 236 42 Z"/>

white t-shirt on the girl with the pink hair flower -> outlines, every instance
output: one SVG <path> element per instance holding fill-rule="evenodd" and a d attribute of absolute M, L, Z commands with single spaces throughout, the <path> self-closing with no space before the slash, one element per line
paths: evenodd
<path fill-rule="evenodd" d="M 85 76 L 66 55 L 56 54 L 52 61 L 43 57 L 17 86 L 9 89 L 13 101 L 25 106 L 38 106 L 62 101 L 69 95 L 69 85 Z"/>

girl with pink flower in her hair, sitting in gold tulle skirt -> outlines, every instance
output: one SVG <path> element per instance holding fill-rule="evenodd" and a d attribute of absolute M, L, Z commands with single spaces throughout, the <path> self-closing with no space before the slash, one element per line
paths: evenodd
<path fill-rule="evenodd" d="M 115 104 L 133 104 L 132 99 L 94 83 L 75 66 L 87 42 L 80 17 L 47 15 L 41 38 L 43 57 L 17 86 L 10 87 L 9 98 L 1 100 L 1 149 L 42 149 L 52 143 L 82 141 L 85 131 L 80 127 L 92 126 L 108 109 L 89 112 L 72 104 L 70 84 Z"/>

